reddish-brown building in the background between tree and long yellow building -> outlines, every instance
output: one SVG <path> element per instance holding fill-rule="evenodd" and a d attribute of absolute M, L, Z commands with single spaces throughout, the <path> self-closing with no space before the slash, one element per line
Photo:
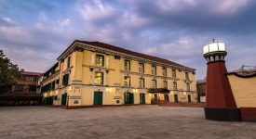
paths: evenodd
<path fill-rule="evenodd" d="M 12 85 L 11 93 L 36 93 L 36 81 L 42 73 L 22 71 L 19 81 Z"/>

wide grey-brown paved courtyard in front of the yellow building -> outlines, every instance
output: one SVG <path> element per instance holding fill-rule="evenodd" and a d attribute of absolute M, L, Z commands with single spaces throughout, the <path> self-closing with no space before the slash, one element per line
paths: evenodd
<path fill-rule="evenodd" d="M 255 122 L 204 119 L 201 107 L 0 107 L 0 138 L 256 138 Z"/>

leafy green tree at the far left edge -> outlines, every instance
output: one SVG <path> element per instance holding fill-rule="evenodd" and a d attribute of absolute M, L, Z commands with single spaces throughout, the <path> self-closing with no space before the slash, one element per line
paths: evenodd
<path fill-rule="evenodd" d="M 18 82 L 22 70 L 4 55 L 3 50 L 0 50 L 0 93 L 10 91 L 11 85 Z"/>

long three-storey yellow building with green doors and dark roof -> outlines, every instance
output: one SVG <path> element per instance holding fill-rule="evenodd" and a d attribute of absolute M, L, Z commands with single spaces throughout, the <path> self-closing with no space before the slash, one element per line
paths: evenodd
<path fill-rule="evenodd" d="M 195 69 L 100 42 L 75 40 L 42 78 L 54 106 L 197 101 Z"/>

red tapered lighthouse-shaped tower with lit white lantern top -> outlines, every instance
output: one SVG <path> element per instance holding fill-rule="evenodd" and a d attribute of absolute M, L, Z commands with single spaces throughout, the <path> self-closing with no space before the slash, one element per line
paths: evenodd
<path fill-rule="evenodd" d="M 207 59 L 207 96 L 205 117 L 208 120 L 237 121 L 240 111 L 230 83 L 225 73 L 224 57 L 227 55 L 226 46 L 215 42 L 204 46 L 204 57 Z"/>

